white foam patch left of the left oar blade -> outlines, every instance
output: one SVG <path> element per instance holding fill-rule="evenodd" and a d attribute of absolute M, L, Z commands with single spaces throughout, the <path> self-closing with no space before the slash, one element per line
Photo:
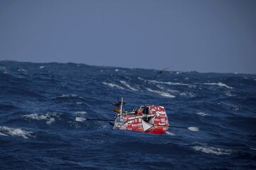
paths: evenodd
<path fill-rule="evenodd" d="M 37 114 L 33 113 L 30 115 L 23 115 L 23 118 L 26 120 L 31 119 L 31 120 L 46 120 L 46 124 L 50 125 L 55 122 L 56 118 L 59 118 L 58 113 L 46 113 L 46 114 Z"/>

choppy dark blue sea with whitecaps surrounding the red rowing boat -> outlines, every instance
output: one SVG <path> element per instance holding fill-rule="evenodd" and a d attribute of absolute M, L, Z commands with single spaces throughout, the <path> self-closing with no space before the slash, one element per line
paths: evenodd
<path fill-rule="evenodd" d="M 0 62 L 0 169 L 256 169 L 256 75 Z M 169 135 L 113 130 L 112 103 L 164 106 Z"/>

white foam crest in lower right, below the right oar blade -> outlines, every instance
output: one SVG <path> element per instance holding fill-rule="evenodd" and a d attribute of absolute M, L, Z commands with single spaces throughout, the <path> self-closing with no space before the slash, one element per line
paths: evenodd
<path fill-rule="evenodd" d="M 196 151 L 200 151 L 206 154 L 229 155 L 231 153 L 230 150 L 219 147 L 194 146 L 192 148 L 195 149 Z"/>

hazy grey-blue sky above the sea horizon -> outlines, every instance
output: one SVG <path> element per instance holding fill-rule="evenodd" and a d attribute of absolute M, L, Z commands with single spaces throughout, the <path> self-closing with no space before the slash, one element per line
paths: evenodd
<path fill-rule="evenodd" d="M 256 73 L 256 1 L 0 0 L 0 60 Z"/>

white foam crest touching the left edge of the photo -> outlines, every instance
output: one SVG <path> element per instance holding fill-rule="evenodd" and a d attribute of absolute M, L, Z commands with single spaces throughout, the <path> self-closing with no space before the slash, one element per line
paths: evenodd
<path fill-rule="evenodd" d="M 18 136 L 28 139 L 28 137 L 33 137 L 32 132 L 28 132 L 26 130 L 21 130 L 21 128 L 9 128 L 6 126 L 0 126 L 0 135 L 4 136 Z"/>

